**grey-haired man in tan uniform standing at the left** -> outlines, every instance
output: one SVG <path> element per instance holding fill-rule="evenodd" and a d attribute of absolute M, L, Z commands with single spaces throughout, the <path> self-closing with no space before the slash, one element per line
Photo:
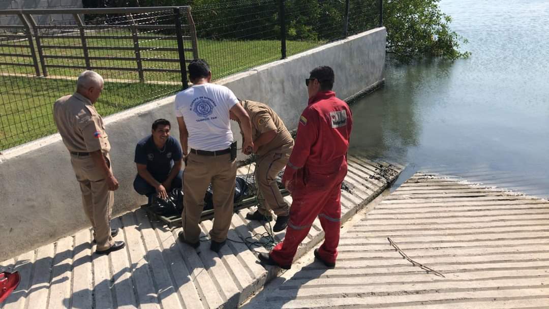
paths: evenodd
<path fill-rule="evenodd" d="M 53 120 L 69 150 L 76 180 L 80 183 L 82 204 L 92 223 L 96 253 L 109 254 L 124 248 L 114 241 L 117 230 L 110 229 L 114 190 L 118 181 L 110 166 L 110 143 L 103 119 L 93 106 L 103 90 L 103 77 L 84 71 L 76 82 L 76 92 L 53 104 Z"/>

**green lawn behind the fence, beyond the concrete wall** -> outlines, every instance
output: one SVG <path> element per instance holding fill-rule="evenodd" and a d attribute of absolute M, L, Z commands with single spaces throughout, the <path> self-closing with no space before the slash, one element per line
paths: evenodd
<path fill-rule="evenodd" d="M 122 35 L 123 33 L 119 33 Z M 113 32 L 109 35 L 114 35 Z M 21 42 L 23 44 L 25 42 Z M 79 46 L 79 39 L 47 38 L 43 45 L 61 44 Z M 88 46 L 133 46 L 131 38 L 123 40 L 89 39 Z M 186 44 L 190 45 L 190 42 Z M 324 42 L 289 41 L 288 55 L 319 46 Z M 174 40 L 141 40 L 144 47 L 177 47 Z M 269 63 L 280 58 L 280 42 L 269 40 L 257 41 L 198 41 L 199 58 L 206 59 L 211 66 L 215 78 L 222 78 L 254 66 Z M 0 53 L 29 54 L 28 48 L 0 48 Z M 81 55 L 79 49 L 45 49 L 49 55 Z M 92 57 L 133 57 L 132 50 L 90 50 Z M 178 59 L 177 52 L 142 52 L 142 58 Z M 192 58 L 187 52 L 186 57 Z M 0 57 L 0 62 L 29 63 L 27 57 Z M 85 65 L 78 59 L 47 59 L 48 64 Z M 144 68 L 179 69 L 179 63 L 143 61 Z M 109 66 L 114 70 L 98 70 L 106 79 L 102 96 L 97 103 L 97 109 L 103 116 L 117 113 L 148 102 L 165 97 L 181 89 L 181 75 L 170 72 L 145 72 L 145 83 L 139 82 L 137 72 L 117 70 L 116 68 L 134 68 L 135 61 L 126 60 L 92 60 L 92 66 Z M 14 75 L 33 75 L 32 66 L 0 65 L 0 150 L 14 147 L 32 141 L 57 130 L 53 123 L 53 102 L 65 94 L 74 92 L 74 78 L 81 69 L 48 68 L 48 76 L 25 77 Z M 57 78 L 58 77 L 58 78 Z"/>

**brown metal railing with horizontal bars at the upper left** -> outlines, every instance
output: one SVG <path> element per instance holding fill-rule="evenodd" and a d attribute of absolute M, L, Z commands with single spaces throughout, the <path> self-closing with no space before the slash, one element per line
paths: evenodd
<path fill-rule="evenodd" d="M 181 11 L 184 12 L 181 12 Z M 75 24 L 40 25 L 36 22 L 39 14 L 72 14 Z M 9 13 L 9 12 L 5 12 Z M 100 13 L 115 16 L 91 18 L 92 23 L 84 23 L 81 15 Z M 198 57 L 197 37 L 194 23 L 188 7 L 182 8 L 123 8 L 123 9 L 32 9 L 21 10 L 17 14 L 21 21 L 19 29 L 24 33 L 4 33 L 4 48 L 28 49 L 28 54 L 9 54 L 11 62 L 0 65 L 33 66 L 36 76 L 48 77 L 52 68 L 61 76 L 65 69 L 135 71 L 139 81 L 145 81 L 145 72 L 176 72 L 180 69 L 156 68 L 155 62 L 180 64 L 178 51 L 193 52 Z M 181 24 L 181 16 L 187 17 L 186 25 Z M 189 36 L 183 36 L 183 26 L 188 28 Z M 16 25 L 6 27 L 18 27 Z M 24 38 L 24 40 L 18 40 Z M 192 48 L 179 46 L 181 40 L 191 40 Z M 160 42 L 172 41 L 178 45 L 172 47 L 157 46 Z M 94 42 L 99 44 L 93 44 Z M 132 46 L 133 45 L 133 46 Z M 36 46 L 36 48 L 35 48 Z M 77 50 L 76 54 L 72 50 Z M 110 55 L 114 52 L 115 55 Z M 171 52 L 171 53 L 170 53 Z M 92 55 L 96 53 L 99 55 Z M 146 55 L 148 54 L 149 55 Z M 120 57 L 122 55 L 123 57 Z M 11 56 L 11 57 L 10 57 Z M 126 57 L 124 57 L 126 56 Z M 184 54 L 183 54 L 184 56 Z M 32 63 L 17 61 L 18 57 L 31 58 Z M 14 58 L 16 61 L 14 61 Z M 38 61 L 40 60 L 40 61 Z M 70 61 L 66 61 L 70 60 Z M 71 62 L 74 60 L 73 62 Z M 184 63 L 184 57 L 183 57 Z M 126 65 L 131 61 L 133 67 Z M 151 64 L 151 65 L 148 65 Z M 39 68 L 40 67 L 40 68 Z M 184 70 L 184 65 L 181 68 Z M 183 75 L 184 76 L 184 75 Z"/>

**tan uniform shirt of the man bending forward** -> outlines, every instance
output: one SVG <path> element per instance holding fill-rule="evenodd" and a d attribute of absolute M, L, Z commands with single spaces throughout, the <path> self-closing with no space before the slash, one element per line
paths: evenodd
<path fill-rule="evenodd" d="M 262 134 L 268 131 L 276 130 L 276 136 L 273 140 L 257 149 L 257 155 L 262 156 L 273 150 L 281 152 L 292 150 L 294 139 L 282 119 L 268 105 L 245 100 L 242 106 L 250 116 L 251 137 L 254 141 Z"/>

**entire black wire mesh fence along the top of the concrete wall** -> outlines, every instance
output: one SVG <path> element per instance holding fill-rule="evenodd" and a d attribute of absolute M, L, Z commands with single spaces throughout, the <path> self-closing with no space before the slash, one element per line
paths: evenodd
<path fill-rule="evenodd" d="M 0 150 L 54 133 L 53 102 L 82 70 L 105 78 L 96 106 L 106 116 L 187 87 L 191 59 L 221 78 L 373 29 L 381 12 L 382 0 L 0 10 L 12 21 L 0 25 Z"/>

